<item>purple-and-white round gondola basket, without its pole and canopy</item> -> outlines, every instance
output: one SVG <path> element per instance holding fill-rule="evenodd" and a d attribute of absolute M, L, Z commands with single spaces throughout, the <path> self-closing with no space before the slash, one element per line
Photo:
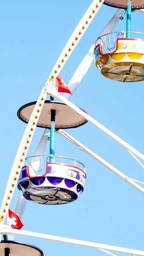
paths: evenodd
<path fill-rule="evenodd" d="M 45 157 L 45 173 L 41 174 L 41 169 L 35 172 L 33 161 L 41 158 L 41 162 L 45 163 Z M 18 189 L 23 191 L 23 196 L 27 200 L 41 204 L 73 202 L 84 190 L 85 166 L 75 159 L 62 156 L 54 156 L 54 161 L 51 163 L 50 157 L 33 156 L 31 160 L 27 158 L 29 165 L 24 166 L 21 171 Z M 55 159 L 59 159 L 59 162 Z"/>

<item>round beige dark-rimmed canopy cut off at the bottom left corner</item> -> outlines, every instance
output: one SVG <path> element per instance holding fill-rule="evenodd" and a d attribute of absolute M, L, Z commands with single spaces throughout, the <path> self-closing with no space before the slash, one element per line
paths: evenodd
<path fill-rule="evenodd" d="M 10 256 L 43 256 L 43 252 L 30 244 L 18 243 L 15 241 L 1 241 L 0 255 Z"/>

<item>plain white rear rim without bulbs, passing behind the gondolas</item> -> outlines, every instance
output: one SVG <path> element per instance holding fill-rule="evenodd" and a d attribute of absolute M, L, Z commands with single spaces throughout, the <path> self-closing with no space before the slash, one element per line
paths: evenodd
<path fill-rule="evenodd" d="M 103 31 L 99 35 L 99 37 L 103 34 L 109 34 L 110 32 L 113 31 L 113 28 L 116 26 L 118 21 L 123 19 L 123 14 L 124 14 L 123 9 L 119 9 L 112 17 L 112 19 L 109 21 L 109 23 L 104 27 Z M 74 72 L 72 78 L 68 82 L 68 88 L 70 89 L 71 93 L 74 92 L 74 90 L 77 89 L 77 86 L 81 83 L 82 79 L 84 76 L 87 74 L 88 69 L 93 63 L 93 60 L 95 59 L 93 51 L 95 48 L 95 43 L 90 47 L 88 50 L 88 53 L 85 54 L 84 59 L 82 59 L 81 64 L 77 67 L 76 71 Z M 71 95 L 68 93 L 63 93 L 63 97 L 67 98 L 68 100 L 70 99 Z M 38 144 L 37 150 L 34 153 L 34 156 L 37 155 L 43 155 L 43 152 L 46 147 L 46 143 L 48 141 L 49 137 L 49 129 L 45 129 L 45 132 L 43 133 L 40 143 Z M 32 165 L 33 163 L 31 163 Z M 39 167 L 39 161 L 37 161 L 37 166 L 35 166 L 35 171 L 37 172 L 38 167 Z M 23 194 L 20 194 L 20 197 L 18 199 L 15 213 L 22 218 L 23 213 L 24 213 L 24 208 L 26 207 L 26 202 L 27 200 L 24 199 Z M 10 238 L 14 239 L 14 236 L 10 236 Z"/>

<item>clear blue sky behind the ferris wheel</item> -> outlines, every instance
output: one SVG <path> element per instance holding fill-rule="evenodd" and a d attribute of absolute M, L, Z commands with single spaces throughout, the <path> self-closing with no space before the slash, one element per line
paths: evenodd
<path fill-rule="evenodd" d="M 37 100 L 60 52 L 91 2 L 1 1 L 1 201 L 26 127 L 16 112 L 23 104 Z M 60 73 L 66 83 L 116 10 L 101 7 Z M 132 31 L 143 32 L 143 19 L 142 13 L 132 13 Z M 121 29 L 126 29 L 126 21 L 121 21 L 115 31 Z M 144 152 L 143 95 L 143 82 L 111 81 L 93 63 L 71 101 Z M 43 129 L 37 128 L 27 156 L 34 154 L 42 133 Z M 90 123 L 70 130 L 70 134 L 126 175 L 144 180 L 143 169 L 132 156 Z M 49 145 L 45 153 L 49 154 Z M 85 164 L 85 190 L 76 202 L 66 205 L 27 202 L 24 230 L 144 250 L 143 195 L 59 135 L 56 155 L 76 158 Z M 19 194 L 16 190 L 11 210 L 15 210 Z M 16 237 L 16 241 L 32 243 L 51 256 L 103 255 L 95 249 L 22 236 Z"/>

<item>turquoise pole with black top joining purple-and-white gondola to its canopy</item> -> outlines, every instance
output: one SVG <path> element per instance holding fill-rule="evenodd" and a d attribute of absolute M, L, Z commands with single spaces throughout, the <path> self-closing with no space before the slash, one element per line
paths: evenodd
<path fill-rule="evenodd" d="M 55 116 L 56 110 L 51 109 L 51 130 L 50 130 L 50 162 L 54 162 L 54 134 L 55 134 Z"/>

